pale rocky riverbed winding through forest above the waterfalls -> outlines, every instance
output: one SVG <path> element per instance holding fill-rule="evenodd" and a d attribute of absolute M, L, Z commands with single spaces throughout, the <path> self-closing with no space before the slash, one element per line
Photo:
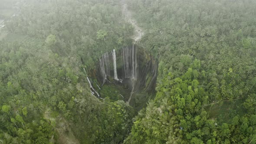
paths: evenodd
<path fill-rule="evenodd" d="M 135 28 L 135 33 L 132 36 L 135 42 L 139 41 L 141 37 L 144 35 L 142 29 L 137 25 L 136 21 L 132 19 L 131 12 L 127 8 L 127 4 L 123 3 L 123 15 L 125 16 L 125 20 L 131 23 L 132 26 Z"/>

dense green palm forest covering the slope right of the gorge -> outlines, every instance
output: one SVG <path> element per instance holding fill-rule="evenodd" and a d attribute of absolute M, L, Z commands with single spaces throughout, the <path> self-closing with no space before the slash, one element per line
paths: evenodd
<path fill-rule="evenodd" d="M 146 30 L 141 45 L 160 64 L 156 98 L 125 143 L 255 144 L 256 2 L 130 0 L 129 6 Z M 223 101 L 242 102 L 209 115 L 207 107 Z"/>

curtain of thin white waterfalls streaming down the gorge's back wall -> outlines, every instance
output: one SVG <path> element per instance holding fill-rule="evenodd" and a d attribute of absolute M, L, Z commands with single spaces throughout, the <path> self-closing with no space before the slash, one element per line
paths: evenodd
<path fill-rule="evenodd" d="M 123 63 L 123 67 L 118 67 L 120 62 Z M 98 68 L 102 85 L 108 80 L 108 76 L 120 82 L 129 78 L 136 80 L 138 78 L 136 45 L 124 47 L 120 51 L 113 49 L 111 52 L 105 52 L 98 59 Z"/>

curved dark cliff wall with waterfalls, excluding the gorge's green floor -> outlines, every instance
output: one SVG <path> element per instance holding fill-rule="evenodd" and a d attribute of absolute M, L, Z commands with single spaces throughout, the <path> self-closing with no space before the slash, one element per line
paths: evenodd
<path fill-rule="evenodd" d="M 95 68 L 90 68 L 91 79 L 97 79 L 95 85 L 103 85 L 114 82 L 129 88 L 131 94 L 125 101 L 136 103 L 137 94 L 151 95 L 154 93 L 158 74 L 158 62 L 151 54 L 137 45 L 131 45 L 122 49 L 106 52 L 98 58 Z M 97 86 L 98 87 L 98 86 Z M 99 92 L 100 93 L 100 92 Z M 147 96 L 144 96 L 145 98 Z M 148 98 L 146 98 L 148 99 Z"/>

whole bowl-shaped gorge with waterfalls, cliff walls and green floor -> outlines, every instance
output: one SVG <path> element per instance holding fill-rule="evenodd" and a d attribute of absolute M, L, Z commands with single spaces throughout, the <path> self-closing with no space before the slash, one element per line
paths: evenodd
<path fill-rule="evenodd" d="M 136 44 L 105 52 L 95 67 L 88 69 L 92 94 L 126 101 L 139 110 L 155 93 L 157 65 L 153 56 Z"/>

